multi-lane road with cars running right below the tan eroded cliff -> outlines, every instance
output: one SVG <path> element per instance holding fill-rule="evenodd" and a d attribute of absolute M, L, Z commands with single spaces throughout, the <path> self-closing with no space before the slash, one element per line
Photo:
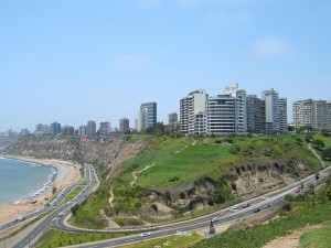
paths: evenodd
<path fill-rule="evenodd" d="M 331 168 L 327 168 L 320 171 L 321 175 L 327 175 L 330 174 Z M 128 245 L 131 242 L 137 242 L 137 241 L 143 241 L 148 239 L 153 239 L 153 238 L 161 238 L 170 235 L 174 235 L 177 230 L 180 231 L 192 231 L 192 230 L 197 230 L 197 229 L 207 229 L 211 224 L 211 219 L 217 217 L 217 222 L 214 223 L 214 225 L 223 225 L 225 223 L 231 223 L 235 222 L 242 218 L 245 218 L 249 215 L 254 215 L 254 211 L 259 208 L 260 211 L 267 211 L 268 205 L 274 205 L 280 201 L 284 200 L 284 197 L 288 194 L 296 194 L 296 191 L 298 190 L 299 186 L 301 186 L 301 183 L 303 184 L 305 187 L 309 185 L 310 183 L 318 183 L 316 181 L 314 175 L 310 175 L 306 177 L 305 180 L 301 180 L 300 182 L 293 183 L 292 185 L 286 186 L 284 188 L 280 188 L 278 191 L 261 195 L 259 197 L 249 200 L 248 202 L 242 203 L 238 205 L 237 211 L 233 211 L 232 207 L 228 207 L 223 211 L 215 212 L 213 214 L 209 214 L 199 218 L 193 218 L 184 222 L 178 222 L 178 223 L 172 223 L 172 224 L 164 224 L 164 225 L 158 225 L 157 227 L 150 227 L 150 229 L 154 229 L 151 231 L 151 235 L 148 237 L 140 237 L 139 234 L 134 234 L 132 236 L 124 237 L 124 238 L 116 238 L 111 240 L 106 240 L 106 241 L 98 241 L 98 242 L 90 242 L 90 244 L 85 244 L 85 245 L 79 245 L 75 247 L 95 247 L 95 248 L 102 248 L 102 247 L 117 247 L 117 246 L 124 246 Z M 244 208 L 244 204 L 249 203 L 250 206 Z M 60 220 L 61 223 L 61 220 Z M 96 233 L 96 230 L 82 230 L 77 229 L 74 227 L 68 227 L 64 226 L 64 230 L 70 230 L 70 231 L 75 231 L 75 233 Z M 148 229 L 149 227 L 147 227 Z M 120 228 L 114 228 L 111 230 L 99 230 L 98 233 L 114 233 L 114 231 L 124 231 Z M 139 231 L 136 229 L 136 231 Z M 146 231 L 146 230 L 140 230 L 140 233 Z"/>

